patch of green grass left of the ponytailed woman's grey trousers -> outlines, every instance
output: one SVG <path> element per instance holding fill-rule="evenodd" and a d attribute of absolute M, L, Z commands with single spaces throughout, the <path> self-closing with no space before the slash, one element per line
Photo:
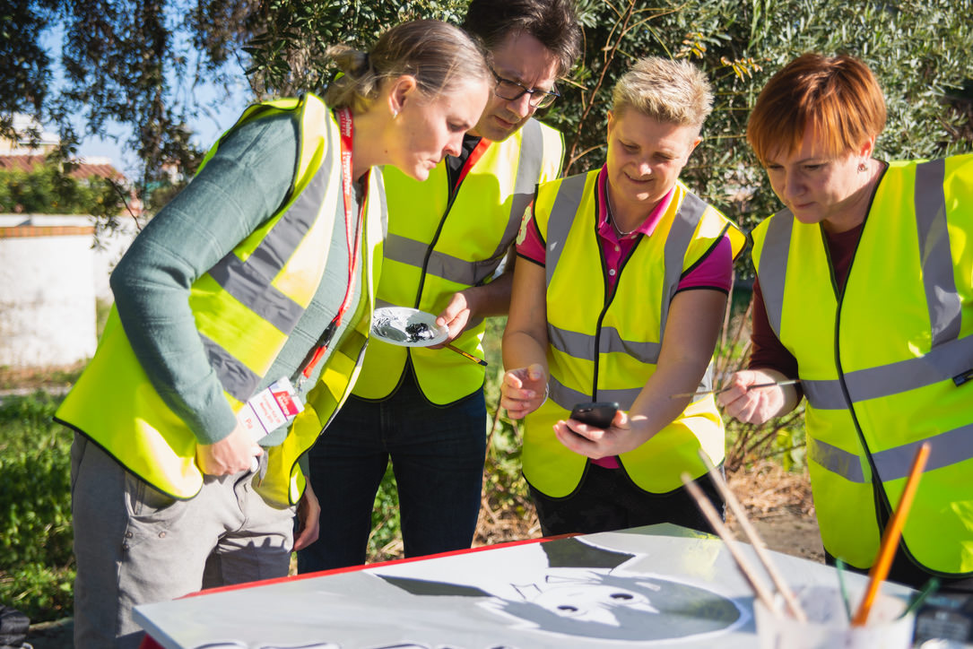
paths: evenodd
<path fill-rule="evenodd" d="M 57 403 L 0 404 L 0 601 L 31 622 L 71 612 L 71 435 L 52 421 Z"/>

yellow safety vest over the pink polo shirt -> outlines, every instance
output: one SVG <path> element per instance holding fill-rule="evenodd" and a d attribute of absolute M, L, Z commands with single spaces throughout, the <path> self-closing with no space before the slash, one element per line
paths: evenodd
<path fill-rule="evenodd" d="M 541 185 L 534 203 L 537 227 L 547 243 L 550 396 L 526 416 L 523 475 L 551 497 L 570 495 L 581 483 L 588 458 L 564 447 L 553 426 L 577 403 L 617 401 L 629 410 L 655 373 L 669 303 L 685 270 L 729 234 L 736 257 L 745 237 L 711 205 L 677 183 L 652 236 L 641 236 L 623 264 L 614 294 L 607 291 L 596 234 L 599 170 Z M 704 389 L 711 374 L 703 378 Z M 724 457 L 723 420 L 712 395 L 691 403 L 652 439 L 619 456 L 638 487 L 666 493 L 682 486 L 686 471 L 706 471 L 697 454 Z"/>

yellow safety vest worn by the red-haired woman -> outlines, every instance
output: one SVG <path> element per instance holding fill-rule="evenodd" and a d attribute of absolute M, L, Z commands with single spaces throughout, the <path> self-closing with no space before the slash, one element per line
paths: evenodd
<path fill-rule="evenodd" d="M 784 210 L 754 230 L 768 318 L 808 397 L 821 538 L 855 567 L 872 565 L 929 442 L 902 548 L 930 572 L 973 574 L 971 234 L 973 155 L 889 164 L 844 290 L 819 225 Z"/>

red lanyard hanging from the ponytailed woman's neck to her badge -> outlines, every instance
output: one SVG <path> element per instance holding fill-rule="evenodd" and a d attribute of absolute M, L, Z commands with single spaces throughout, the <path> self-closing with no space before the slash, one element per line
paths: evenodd
<path fill-rule="evenodd" d="M 351 138 L 354 134 L 354 126 L 351 111 L 347 108 L 342 108 L 338 111 L 338 125 L 342 134 L 342 195 L 344 198 L 344 236 L 348 244 L 348 283 L 347 288 L 344 290 L 342 306 L 339 307 L 338 313 L 335 314 L 335 317 L 332 318 L 331 322 L 325 328 L 324 333 L 321 334 L 321 338 L 318 339 L 314 347 L 314 353 L 310 360 L 307 361 L 307 365 L 304 371 L 302 371 L 301 377 L 298 379 L 298 385 L 310 377 L 311 372 L 314 371 L 314 366 L 321 360 L 324 352 L 328 350 L 331 339 L 334 338 L 335 332 L 342 325 L 344 311 L 348 309 L 348 304 L 351 302 L 351 293 L 354 290 L 355 277 L 357 277 L 356 270 L 358 268 L 358 253 L 361 249 L 369 173 L 366 172 L 362 176 L 364 192 L 362 194 L 361 205 L 358 206 L 358 217 L 356 219 L 351 211 L 351 205 L 354 204 L 354 191 L 351 189 Z"/>

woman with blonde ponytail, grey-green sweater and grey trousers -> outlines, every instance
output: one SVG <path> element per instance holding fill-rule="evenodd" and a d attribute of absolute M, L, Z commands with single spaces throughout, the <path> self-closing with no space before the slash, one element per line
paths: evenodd
<path fill-rule="evenodd" d="M 327 100 L 246 109 L 112 274 L 116 306 L 56 415 L 75 430 L 78 647 L 137 646 L 133 606 L 284 577 L 317 535 L 299 459 L 368 340 L 378 167 L 424 179 L 492 80 L 433 20 L 331 52 L 344 76 Z"/>

